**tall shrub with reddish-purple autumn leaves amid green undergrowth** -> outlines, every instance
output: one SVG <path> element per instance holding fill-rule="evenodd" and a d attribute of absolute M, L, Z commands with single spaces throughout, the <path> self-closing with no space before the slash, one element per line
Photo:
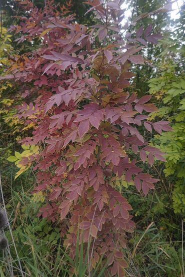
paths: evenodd
<path fill-rule="evenodd" d="M 166 121 L 146 121 L 146 114 L 157 110 L 147 103 L 150 96 L 138 99 L 126 88 L 134 76 L 131 63 L 144 64 L 136 53 L 147 40 L 155 43 L 160 36 L 151 34 L 148 26 L 140 27 L 135 38 L 128 32 L 123 38 L 121 1 L 87 3 L 101 23 L 79 25 L 72 15 L 56 11 L 52 2 L 41 11 L 27 1 L 28 17 L 11 29 L 19 34 L 17 43 L 39 46 L 21 57 L 23 64 L 15 56 L 11 74 L 4 78 L 21 83 L 25 102 L 18 107 L 18 116 L 35 126 L 22 142 L 40 147 L 35 191 L 47 193 L 47 204 L 39 215 L 52 221 L 67 219 L 69 228 L 64 224 L 62 234 L 71 257 L 79 231 L 80 243 L 92 237 L 90 269 L 103 254 L 111 275 L 123 276 L 127 264 L 121 249 L 126 247 L 125 232 L 132 232 L 134 223 L 132 208 L 116 191 L 115 180 L 132 180 L 146 196 L 158 179 L 142 173 L 129 153 L 150 165 L 154 158 L 164 158 L 148 146 L 137 127 L 149 132 L 153 127 L 158 133 L 169 130 Z M 34 44 L 38 37 L 40 42 Z"/>

